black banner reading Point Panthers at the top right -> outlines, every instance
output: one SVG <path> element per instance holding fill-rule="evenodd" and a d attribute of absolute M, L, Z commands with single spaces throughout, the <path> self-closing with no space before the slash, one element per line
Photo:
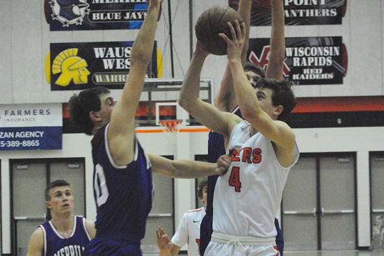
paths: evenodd
<path fill-rule="evenodd" d="M 330 25 L 342 24 L 346 13 L 346 0 L 282 0 L 285 25 Z M 239 0 L 229 0 L 236 9 Z M 271 26 L 271 1 L 253 1 L 250 26 Z"/>

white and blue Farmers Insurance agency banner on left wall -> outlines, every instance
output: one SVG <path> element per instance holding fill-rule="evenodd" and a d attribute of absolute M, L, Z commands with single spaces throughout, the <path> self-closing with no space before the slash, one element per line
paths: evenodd
<path fill-rule="evenodd" d="M 7 104 L 0 109 L 0 150 L 61 150 L 61 104 Z"/>

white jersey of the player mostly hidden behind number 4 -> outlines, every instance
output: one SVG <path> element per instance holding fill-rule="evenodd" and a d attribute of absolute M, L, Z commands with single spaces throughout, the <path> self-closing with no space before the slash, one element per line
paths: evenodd
<path fill-rule="evenodd" d="M 200 224 L 205 216 L 205 207 L 186 211 L 172 238 L 172 243 L 182 247 L 188 243 L 188 255 L 199 256 Z"/>

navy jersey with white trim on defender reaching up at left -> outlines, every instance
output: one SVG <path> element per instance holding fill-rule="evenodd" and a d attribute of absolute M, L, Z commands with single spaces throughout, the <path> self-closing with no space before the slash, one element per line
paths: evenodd
<path fill-rule="evenodd" d="M 108 127 L 100 129 L 92 140 L 96 238 L 140 245 L 152 208 L 150 159 L 136 140 L 134 160 L 126 166 L 116 165 L 108 146 Z"/>

